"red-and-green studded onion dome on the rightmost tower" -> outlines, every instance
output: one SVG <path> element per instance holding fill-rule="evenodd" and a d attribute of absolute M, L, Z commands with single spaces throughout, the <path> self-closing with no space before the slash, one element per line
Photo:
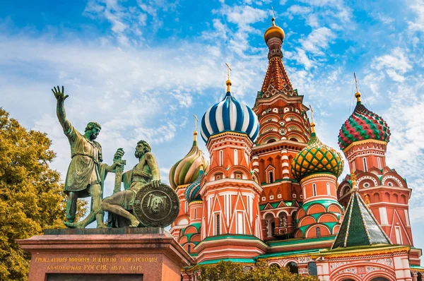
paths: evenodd
<path fill-rule="evenodd" d="M 341 126 L 338 146 L 341 150 L 345 150 L 351 143 L 370 139 L 389 143 L 390 130 L 386 121 L 360 102 L 360 92 L 356 92 L 355 97 L 357 100 L 355 110 Z"/>

